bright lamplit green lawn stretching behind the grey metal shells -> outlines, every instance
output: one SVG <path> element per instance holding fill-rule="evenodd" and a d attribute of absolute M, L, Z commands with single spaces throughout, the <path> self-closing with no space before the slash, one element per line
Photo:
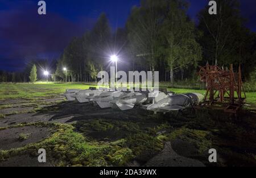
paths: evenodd
<path fill-rule="evenodd" d="M 89 89 L 89 84 L 56 84 L 53 82 L 43 83 L 38 82 L 35 84 L 28 83 L 2 83 L 0 84 L 0 100 L 9 98 L 34 98 L 34 97 L 51 97 L 64 93 L 66 89 Z M 172 89 L 169 91 L 175 93 L 201 93 L 205 94 L 205 90 L 195 89 Z M 256 92 L 246 93 L 247 103 L 256 104 Z"/>

